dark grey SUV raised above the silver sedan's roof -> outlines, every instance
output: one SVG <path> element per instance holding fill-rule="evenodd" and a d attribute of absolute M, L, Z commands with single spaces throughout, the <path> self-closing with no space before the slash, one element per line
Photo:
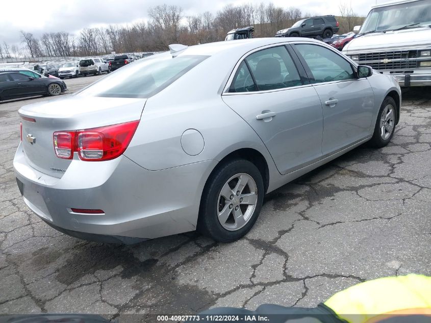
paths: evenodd
<path fill-rule="evenodd" d="M 275 37 L 317 37 L 331 38 L 338 32 L 340 23 L 335 16 L 319 16 L 302 19 L 291 28 L 280 30 Z"/>

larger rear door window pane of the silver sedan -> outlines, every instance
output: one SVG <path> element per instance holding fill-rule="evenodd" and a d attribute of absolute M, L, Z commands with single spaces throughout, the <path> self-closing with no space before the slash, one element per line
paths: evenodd
<path fill-rule="evenodd" d="M 285 46 L 263 49 L 245 60 L 259 91 L 302 85 L 296 66 Z"/>

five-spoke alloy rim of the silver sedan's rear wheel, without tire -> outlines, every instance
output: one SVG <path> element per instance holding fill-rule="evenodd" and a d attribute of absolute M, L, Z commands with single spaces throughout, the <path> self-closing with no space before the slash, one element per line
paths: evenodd
<path fill-rule="evenodd" d="M 255 180 L 246 173 L 232 176 L 221 188 L 217 214 L 221 226 L 236 231 L 246 225 L 255 212 L 258 189 Z"/>

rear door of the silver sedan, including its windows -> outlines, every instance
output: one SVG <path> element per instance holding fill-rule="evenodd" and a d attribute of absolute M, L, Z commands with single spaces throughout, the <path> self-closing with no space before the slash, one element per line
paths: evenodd
<path fill-rule="evenodd" d="M 283 174 L 321 157 L 322 106 L 296 61 L 283 45 L 256 51 L 240 63 L 222 95 L 256 131 Z"/>

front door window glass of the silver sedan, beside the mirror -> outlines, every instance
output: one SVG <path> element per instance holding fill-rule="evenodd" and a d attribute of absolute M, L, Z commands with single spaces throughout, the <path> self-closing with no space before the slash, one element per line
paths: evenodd
<path fill-rule="evenodd" d="M 296 44 L 295 46 L 310 68 L 314 83 L 355 78 L 350 63 L 331 49 L 311 44 Z"/>

